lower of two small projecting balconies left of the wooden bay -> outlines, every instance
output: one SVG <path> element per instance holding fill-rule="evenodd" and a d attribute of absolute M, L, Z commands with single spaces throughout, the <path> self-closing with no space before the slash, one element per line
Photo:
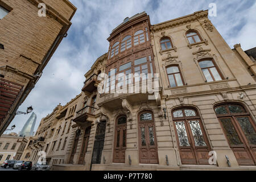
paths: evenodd
<path fill-rule="evenodd" d="M 96 108 L 92 106 L 85 106 L 81 110 L 77 111 L 76 118 L 73 119 L 73 122 L 76 122 L 77 125 L 84 125 L 85 123 L 93 123 L 95 121 L 95 111 Z"/>

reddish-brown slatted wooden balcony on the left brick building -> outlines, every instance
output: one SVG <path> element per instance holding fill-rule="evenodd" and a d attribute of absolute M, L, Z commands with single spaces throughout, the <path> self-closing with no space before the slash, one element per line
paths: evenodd
<path fill-rule="evenodd" d="M 0 124 L 22 93 L 23 85 L 0 78 Z"/>

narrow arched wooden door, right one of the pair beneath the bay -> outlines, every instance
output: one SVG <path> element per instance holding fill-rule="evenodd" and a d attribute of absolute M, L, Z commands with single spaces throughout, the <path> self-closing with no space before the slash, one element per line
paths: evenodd
<path fill-rule="evenodd" d="M 158 164 L 158 146 L 152 113 L 139 115 L 139 162 Z"/>

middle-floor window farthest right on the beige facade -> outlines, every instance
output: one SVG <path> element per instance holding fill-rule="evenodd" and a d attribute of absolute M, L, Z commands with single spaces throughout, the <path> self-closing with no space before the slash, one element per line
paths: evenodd
<path fill-rule="evenodd" d="M 212 60 L 199 61 L 199 65 L 207 79 L 207 82 L 222 80 L 220 72 Z"/>

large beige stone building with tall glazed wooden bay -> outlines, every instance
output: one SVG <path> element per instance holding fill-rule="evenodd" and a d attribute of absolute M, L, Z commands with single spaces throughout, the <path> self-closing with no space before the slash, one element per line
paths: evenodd
<path fill-rule="evenodd" d="M 255 54 L 239 44 L 230 49 L 208 11 L 155 25 L 146 13 L 137 14 L 108 40 L 109 53 L 85 74 L 82 93 L 42 119 L 36 137 L 52 136 L 42 147 L 52 169 L 256 169 Z M 100 73 L 112 71 L 158 73 L 155 99 L 148 99 L 152 93 L 99 93 Z M 121 82 L 105 81 L 110 91 Z M 69 118 L 72 103 L 76 111 Z M 58 153 L 62 137 L 56 133 L 66 121 L 72 123 L 72 133 L 63 135 L 69 147 Z M 212 151 L 217 163 L 209 164 Z"/>

